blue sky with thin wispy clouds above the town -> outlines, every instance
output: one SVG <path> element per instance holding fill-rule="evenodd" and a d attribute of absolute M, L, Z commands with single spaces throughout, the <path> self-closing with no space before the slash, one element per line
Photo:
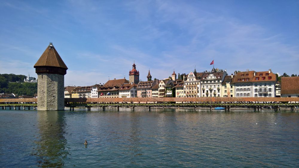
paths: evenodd
<path fill-rule="evenodd" d="M 49 42 L 65 86 L 215 67 L 299 74 L 299 1 L 1 1 L 0 73 L 31 74 Z"/>

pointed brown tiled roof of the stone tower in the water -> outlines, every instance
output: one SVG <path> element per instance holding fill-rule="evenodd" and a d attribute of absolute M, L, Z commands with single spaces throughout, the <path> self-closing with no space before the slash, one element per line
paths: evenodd
<path fill-rule="evenodd" d="M 52 43 L 50 43 L 44 53 L 42 53 L 42 56 L 40 56 L 39 60 L 35 63 L 34 68 L 40 66 L 60 67 L 66 70 L 68 69 Z"/>

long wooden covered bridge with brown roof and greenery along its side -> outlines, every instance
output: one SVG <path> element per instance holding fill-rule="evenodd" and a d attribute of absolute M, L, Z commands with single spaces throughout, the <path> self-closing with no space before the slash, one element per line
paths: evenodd
<path fill-rule="evenodd" d="M 24 99 L 0 99 L 0 109 L 29 109 L 37 107 L 37 98 Z M 299 106 L 299 98 L 220 98 L 220 97 L 203 97 L 203 98 L 65 98 L 65 107 L 86 107 L 90 110 L 91 107 L 224 107 L 225 110 L 230 110 L 231 107 L 247 107 L 254 111 L 259 111 L 260 108 L 270 108 L 279 110 L 280 107 L 290 108 L 294 111 Z"/>

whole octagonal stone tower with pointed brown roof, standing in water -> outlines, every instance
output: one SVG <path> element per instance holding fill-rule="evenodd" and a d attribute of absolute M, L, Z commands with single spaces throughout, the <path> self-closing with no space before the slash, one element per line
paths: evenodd
<path fill-rule="evenodd" d="M 53 44 L 47 47 L 34 65 L 37 73 L 37 110 L 64 110 L 64 75 L 68 67 Z"/>

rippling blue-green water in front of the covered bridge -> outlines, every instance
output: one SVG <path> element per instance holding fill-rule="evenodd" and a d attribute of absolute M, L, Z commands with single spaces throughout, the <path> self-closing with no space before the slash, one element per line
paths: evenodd
<path fill-rule="evenodd" d="M 0 110 L 0 167 L 299 167 L 298 111 L 151 110 Z"/>

